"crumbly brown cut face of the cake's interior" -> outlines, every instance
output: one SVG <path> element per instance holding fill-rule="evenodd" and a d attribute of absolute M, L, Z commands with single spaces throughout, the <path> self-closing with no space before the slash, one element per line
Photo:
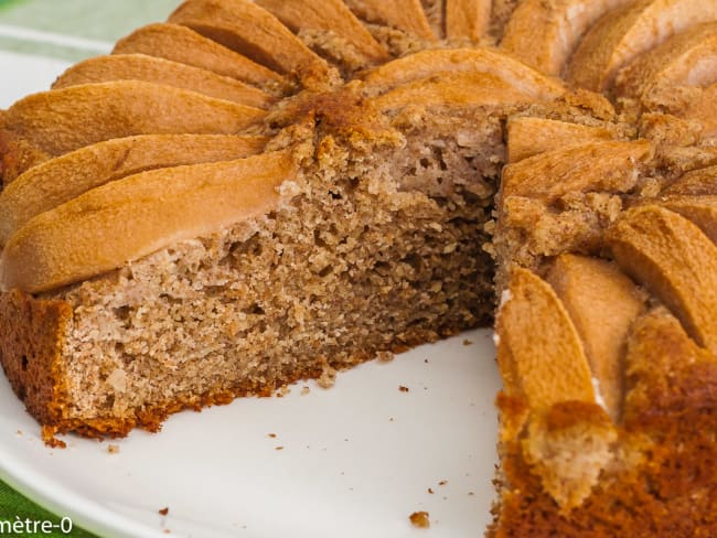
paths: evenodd
<path fill-rule="evenodd" d="M 274 143 L 307 164 L 275 211 L 40 294 L 73 310 L 58 431 L 156 429 L 182 407 L 330 384 L 377 354 L 488 325 L 502 122 L 481 110 L 394 121 L 411 125 L 364 139 L 293 127 Z"/>

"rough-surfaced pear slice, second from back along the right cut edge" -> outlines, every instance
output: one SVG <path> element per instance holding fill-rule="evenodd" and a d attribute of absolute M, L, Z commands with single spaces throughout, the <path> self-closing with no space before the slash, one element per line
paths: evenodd
<path fill-rule="evenodd" d="M 502 197 L 528 196 L 553 203 L 568 193 L 627 192 L 640 166 L 654 155 L 646 140 L 598 141 L 547 151 L 503 170 Z"/>

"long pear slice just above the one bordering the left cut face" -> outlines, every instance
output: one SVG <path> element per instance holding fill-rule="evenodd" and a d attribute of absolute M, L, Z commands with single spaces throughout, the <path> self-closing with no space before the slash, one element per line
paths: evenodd
<path fill-rule="evenodd" d="M 231 161 L 260 152 L 264 137 L 143 134 L 117 138 L 31 168 L 0 192 L 0 245 L 35 215 L 146 170 Z"/>

